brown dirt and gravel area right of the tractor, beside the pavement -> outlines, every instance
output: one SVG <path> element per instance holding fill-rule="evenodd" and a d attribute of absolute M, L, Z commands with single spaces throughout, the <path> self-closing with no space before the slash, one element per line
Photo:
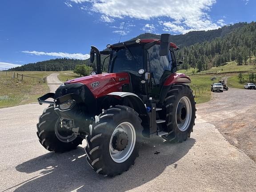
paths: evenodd
<path fill-rule="evenodd" d="M 256 161 L 256 90 L 214 92 L 197 106 L 197 116 L 213 124 L 234 146 Z"/>

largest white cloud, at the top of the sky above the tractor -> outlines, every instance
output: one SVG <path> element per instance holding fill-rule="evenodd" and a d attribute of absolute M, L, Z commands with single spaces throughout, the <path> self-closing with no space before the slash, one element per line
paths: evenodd
<path fill-rule="evenodd" d="M 75 3 L 89 2 L 91 11 L 108 18 L 130 17 L 150 20 L 163 18 L 165 30 L 176 32 L 211 30 L 221 25 L 208 15 L 216 0 L 72 0 Z M 160 23 L 160 22 L 159 22 Z M 223 24 L 222 22 L 221 24 Z"/>

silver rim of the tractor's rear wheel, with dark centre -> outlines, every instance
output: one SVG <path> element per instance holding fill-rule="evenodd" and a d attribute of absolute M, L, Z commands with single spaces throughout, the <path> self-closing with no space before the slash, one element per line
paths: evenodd
<path fill-rule="evenodd" d="M 188 129 L 192 119 L 192 105 L 187 96 L 180 99 L 176 108 L 176 124 L 180 131 Z"/>

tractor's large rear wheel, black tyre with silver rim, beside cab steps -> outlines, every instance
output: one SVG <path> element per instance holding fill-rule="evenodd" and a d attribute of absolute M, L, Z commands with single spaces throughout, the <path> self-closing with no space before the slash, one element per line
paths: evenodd
<path fill-rule="evenodd" d="M 164 100 L 164 107 L 169 132 L 162 137 L 173 143 L 185 141 L 193 131 L 196 118 L 196 102 L 192 90 L 184 84 L 172 85 Z"/>

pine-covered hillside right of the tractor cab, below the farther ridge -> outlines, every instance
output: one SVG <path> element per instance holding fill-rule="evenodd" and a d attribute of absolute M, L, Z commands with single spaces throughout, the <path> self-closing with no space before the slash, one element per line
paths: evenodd
<path fill-rule="evenodd" d="M 250 63 L 252 56 L 256 56 L 256 23 L 246 24 L 212 41 L 181 48 L 177 55 L 184 57 L 183 69 L 193 67 L 204 71 L 234 60 L 238 65 L 248 64 L 248 59 Z"/>

